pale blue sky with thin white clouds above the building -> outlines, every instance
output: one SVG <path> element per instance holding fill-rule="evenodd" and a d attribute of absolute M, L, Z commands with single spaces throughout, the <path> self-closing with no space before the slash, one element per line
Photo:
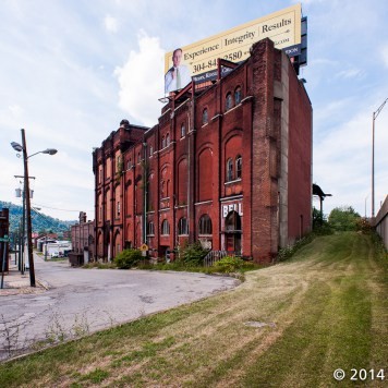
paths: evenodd
<path fill-rule="evenodd" d="M 21 204 L 25 130 L 33 206 L 94 219 L 94 147 L 122 119 L 153 126 L 165 53 L 288 8 L 286 0 L 0 0 L 0 199 Z M 388 98 L 388 2 L 302 1 L 312 101 L 313 183 L 324 213 L 372 209 L 373 112 Z M 375 120 L 375 209 L 388 192 L 388 102 Z M 313 205 L 319 206 L 314 199 Z"/>

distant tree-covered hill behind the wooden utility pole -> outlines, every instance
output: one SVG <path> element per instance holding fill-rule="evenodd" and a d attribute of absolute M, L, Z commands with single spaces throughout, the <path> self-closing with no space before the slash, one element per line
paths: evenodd
<path fill-rule="evenodd" d="M 22 216 L 23 216 L 23 207 L 19 205 L 14 205 L 10 202 L 0 201 L 0 209 L 9 208 L 10 209 L 10 231 L 17 229 Z M 33 232 L 39 231 L 48 231 L 52 230 L 53 233 L 60 233 L 69 230 L 70 226 L 76 223 L 77 221 L 61 221 L 58 218 L 52 218 L 50 216 L 46 216 L 40 211 L 32 210 L 33 218 Z"/>

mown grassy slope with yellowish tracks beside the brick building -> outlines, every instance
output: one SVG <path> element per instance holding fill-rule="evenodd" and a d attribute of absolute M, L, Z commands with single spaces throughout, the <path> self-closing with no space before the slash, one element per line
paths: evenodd
<path fill-rule="evenodd" d="M 371 235 L 317 238 L 232 291 L 2 364 L 0 386 L 331 387 L 342 368 L 383 387 L 387 263 Z"/>

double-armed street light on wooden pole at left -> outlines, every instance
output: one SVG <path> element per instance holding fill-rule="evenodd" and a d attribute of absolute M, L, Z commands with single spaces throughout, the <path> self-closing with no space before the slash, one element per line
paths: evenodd
<path fill-rule="evenodd" d="M 31 287 L 36 287 L 35 283 L 35 267 L 34 267 L 34 255 L 33 255 L 33 242 L 32 242 L 32 219 L 31 219 L 31 196 L 29 196 L 29 178 L 28 178 L 28 158 L 33 157 L 37 154 L 48 154 L 54 155 L 57 154 L 57 149 L 47 148 L 45 150 L 39 150 L 33 155 L 27 155 L 27 144 L 25 140 L 25 132 L 22 129 L 22 145 L 16 142 L 12 142 L 11 146 L 17 153 L 23 151 L 23 161 L 24 161 L 24 195 L 25 195 L 25 203 L 26 203 L 26 218 L 27 218 L 27 257 L 29 263 L 29 281 Z"/>

